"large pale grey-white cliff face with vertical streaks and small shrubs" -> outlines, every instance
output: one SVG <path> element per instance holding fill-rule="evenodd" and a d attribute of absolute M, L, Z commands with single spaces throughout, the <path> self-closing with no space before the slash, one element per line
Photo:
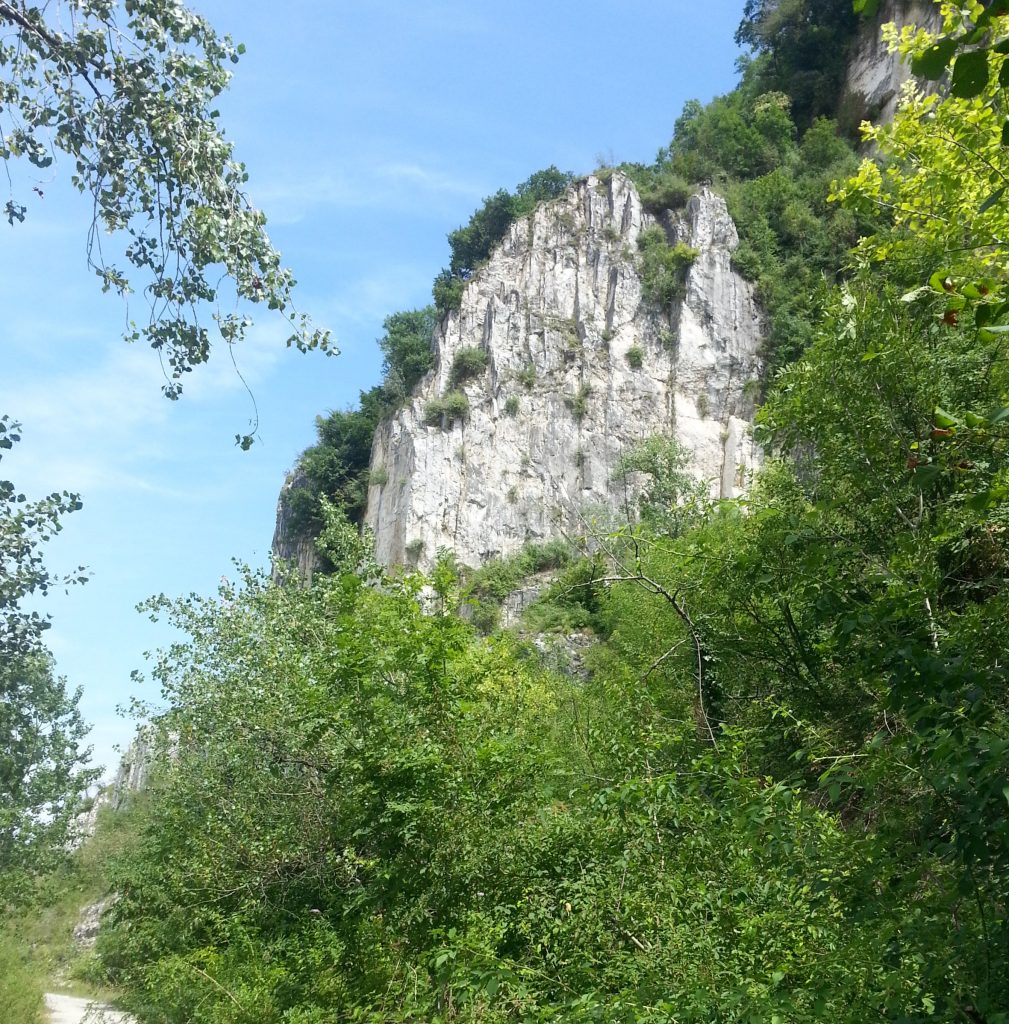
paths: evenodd
<path fill-rule="evenodd" d="M 731 267 L 735 228 L 708 188 L 667 215 L 668 240 L 698 250 L 669 313 L 642 296 L 637 241 L 654 223 L 614 173 L 511 226 L 439 327 L 436 368 L 376 433 L 366 521 L 380 561 L 428 564 L 449 548 L 475 565 L 584 534 L 624 509 L 618 463 L 654 434 L 677 437 L 714 495 L 740 493 L 761 323 Z M 428 403 L 468 348 L 487 360 L 460 385 L 468 414 L 432 423 Z"/>

